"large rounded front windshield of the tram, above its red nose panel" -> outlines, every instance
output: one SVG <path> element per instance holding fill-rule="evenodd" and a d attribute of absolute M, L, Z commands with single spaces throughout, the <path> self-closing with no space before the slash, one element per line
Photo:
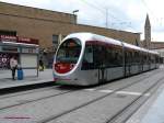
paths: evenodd
<path fill-rule="evenodd" d="M 78 38 L 65 41 L 57 53 L 56 63 L 77 64 L 81 53 L 81 42 Z"/>

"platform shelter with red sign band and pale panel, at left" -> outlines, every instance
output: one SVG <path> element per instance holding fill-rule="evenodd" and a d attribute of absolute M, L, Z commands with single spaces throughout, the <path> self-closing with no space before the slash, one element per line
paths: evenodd
<path fill-rule="evenodd" d="M 15 56 L 26 76 L 38 76 L 38 40 L 0 35 L 0 71 L 10 70 L 10 58 Z"/>

